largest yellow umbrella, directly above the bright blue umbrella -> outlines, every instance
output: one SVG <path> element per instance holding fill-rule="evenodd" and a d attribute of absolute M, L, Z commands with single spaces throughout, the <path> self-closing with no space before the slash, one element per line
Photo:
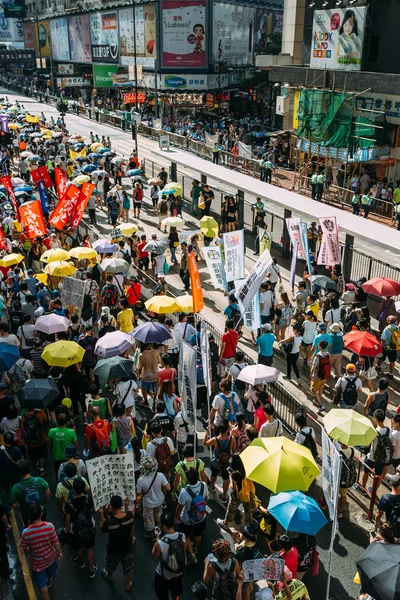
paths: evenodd
<path fill-rule="evenodd" d="M 308 448 L 284 437 L 257 438 L 240 455 L 247 477 L 274 494 L 307 491 L 319 473 Z"/>

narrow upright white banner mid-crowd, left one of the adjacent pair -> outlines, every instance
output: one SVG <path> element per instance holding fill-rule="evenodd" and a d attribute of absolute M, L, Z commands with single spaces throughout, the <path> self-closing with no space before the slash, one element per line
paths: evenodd
<path fill-rule="evenodd" d="M 178 391 L 184 416 L 196 427 L 197 351 L 182 341 L 179 351 Z"/>

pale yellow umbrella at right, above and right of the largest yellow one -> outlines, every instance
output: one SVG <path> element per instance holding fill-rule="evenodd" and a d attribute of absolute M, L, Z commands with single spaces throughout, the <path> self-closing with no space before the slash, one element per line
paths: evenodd
<path fill-rule="evenodd" d="M 377 433 L 368 417 L 348 408 L 332 408 L 324 419 L 328 435 L 346 446 L 368 446 Z"/>

